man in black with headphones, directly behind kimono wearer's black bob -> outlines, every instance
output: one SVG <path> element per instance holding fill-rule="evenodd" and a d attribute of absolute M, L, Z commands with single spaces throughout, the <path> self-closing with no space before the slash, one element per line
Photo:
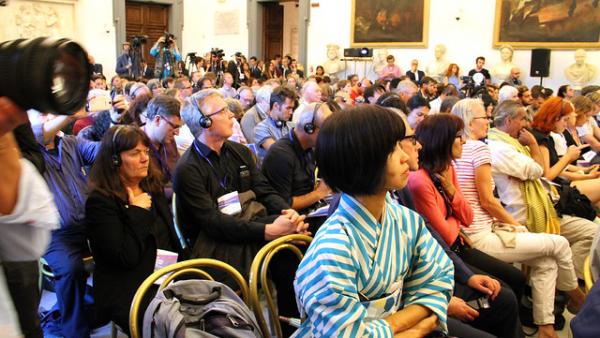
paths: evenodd
<path fill-rule="evenodd" d="M 331 193 L 315 177 L 313 149 L 319 129 L 331 115 L 326 104 L 310 103 L 299 112 L 298 124 L 269 149 L 262 172 L 294 210 L 304 213 Z"/>

